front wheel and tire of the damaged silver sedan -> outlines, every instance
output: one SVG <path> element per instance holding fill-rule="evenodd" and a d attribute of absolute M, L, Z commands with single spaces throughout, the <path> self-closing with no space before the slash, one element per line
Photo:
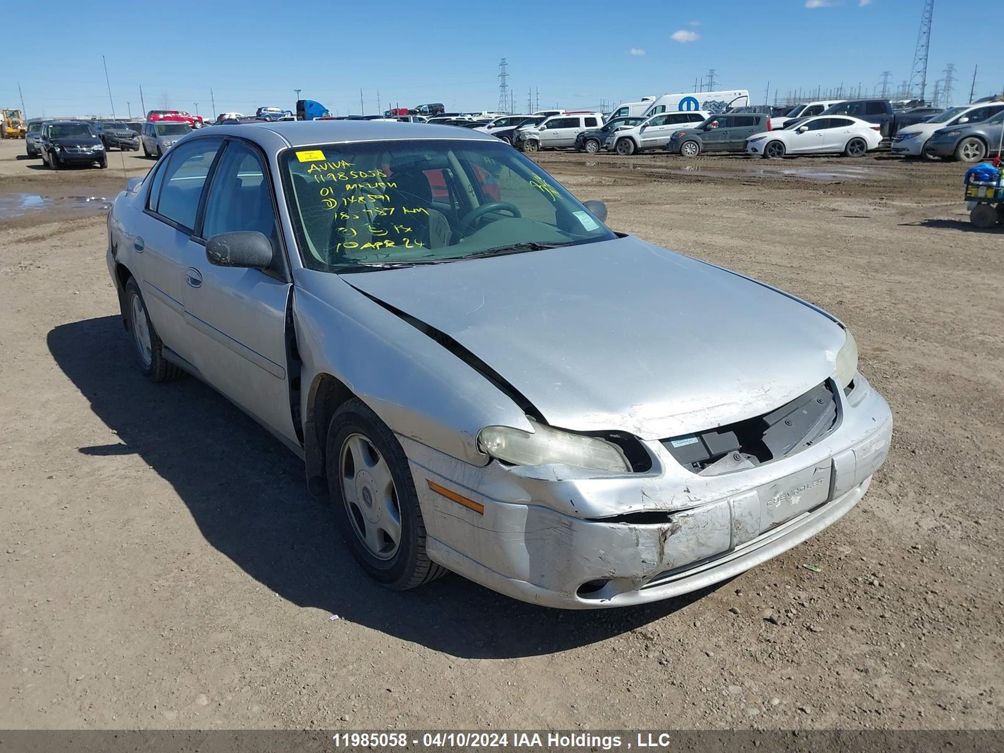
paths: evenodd
<path fill-rule="evenodd" d="M 326 471 L 334 514 L 356 561 L 395 590 L 444 572 L 426 553 L 426 525 L 401 443 L 359 400 L 331 418 Z"/>

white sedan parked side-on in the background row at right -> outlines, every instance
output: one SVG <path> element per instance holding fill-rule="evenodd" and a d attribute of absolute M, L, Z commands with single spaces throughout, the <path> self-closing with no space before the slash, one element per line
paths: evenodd
<path fill-rule="evenodd" d="M 767 158 L 823 153 L 864 157 L 882 142 L 880 129 L 877 123 L 847 115 L 810 117 L 794 128 L 751 136 L 746 140 L 746 154 Z"/>

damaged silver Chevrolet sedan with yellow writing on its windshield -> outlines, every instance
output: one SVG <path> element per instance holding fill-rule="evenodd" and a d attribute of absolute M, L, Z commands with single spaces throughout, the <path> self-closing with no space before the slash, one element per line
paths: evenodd
<path fill-rule="evenodd" d="M 839 519 L 892 416 L 836 318 L 605 214 L 467 129 L 221 126 L 115 199 L 107 262 L 140 369 L 299 455 L 374 580 L 617 606 Z"/>

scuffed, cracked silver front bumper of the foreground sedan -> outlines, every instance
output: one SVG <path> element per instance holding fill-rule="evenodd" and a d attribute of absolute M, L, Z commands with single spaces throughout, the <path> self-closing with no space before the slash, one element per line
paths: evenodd
<path fill-rule="evenodd" d="M 893 421 L 859 374 L 850 398 L 839 397 L 838 421 L 817 445 L 719 476 L 684 469 L 660 443 L 646 443 L 651 471 L 596 478 L 568 467 L 476 467 L 401 440 L 430 558 L 525 601 L 595 608 L 733 577 L 843 516 L 885 461 Z"/>

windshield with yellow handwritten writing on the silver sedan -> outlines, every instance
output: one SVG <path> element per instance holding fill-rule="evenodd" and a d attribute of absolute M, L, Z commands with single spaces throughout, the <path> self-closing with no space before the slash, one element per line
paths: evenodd
<path fill-rule="evenodd" d="M 310 269 L 365 271 L 615 237 L 502 142 L 328 145 L 287 150 L 280 162 Z"/>

